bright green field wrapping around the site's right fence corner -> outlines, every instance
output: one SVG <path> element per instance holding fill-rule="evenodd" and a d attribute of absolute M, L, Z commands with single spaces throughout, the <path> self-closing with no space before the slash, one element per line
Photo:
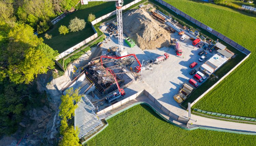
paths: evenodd
<path fill-rule="evenodd" d="M 216 5 L 211 6 L 208 3 L 205 5 L 187 0 L 166 0 L 166 2 L 253 52 L 246 61 L 205 95 L 193 108 L 256 117 L 256 66 L 254 63 L 256 61 L 254 53 L 256 49 L 256 33 L 254 33 L 256 18 L 219 8 L 221 6 L 214 7 Z M 216 74 L 225 69 L 219 69 Z M 211 80 L 207 82 L 209 83 Z M 199 89 L 189 98 L 198 97 L 201 93 Z"/>

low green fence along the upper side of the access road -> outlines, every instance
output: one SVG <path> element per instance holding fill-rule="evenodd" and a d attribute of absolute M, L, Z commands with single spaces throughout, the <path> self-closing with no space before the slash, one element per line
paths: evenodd
<path fill-rule="evenodd" d="M 201 113 L 204 113 L 204 114 L 215 115 L 215 116 L 235 118 L 235 119 L 238 119 L 238 120 L 247 120 L 247 121 L 256 122 L 256 118 L 228 115 L 228 114 L 222 114 L 222 113 L 216 113 L 216 112 L 209 112 L 209 111 L 204 111 L 204 110 L 200 110 L 200 109 L 194 109 L 194 111 L 201 112 Z"/>

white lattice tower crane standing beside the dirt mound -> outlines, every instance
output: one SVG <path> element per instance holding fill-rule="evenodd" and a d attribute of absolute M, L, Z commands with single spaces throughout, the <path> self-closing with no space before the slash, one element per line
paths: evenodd
<path fill-rule="evenodd" d="M 118 49 L 116 49 L 117 56 L 127 55 L 127 51 L 124 50 L 124 37 L 123 37 L 123 20 L 122 20 L 122 6 L 124 4 L 123 0 L 81 0 L 81 4 L 88 4 L 91 1 L 115 1 L 116 4 L 116 19 L 117 19 L 117 30 L 118 30 Z"/>

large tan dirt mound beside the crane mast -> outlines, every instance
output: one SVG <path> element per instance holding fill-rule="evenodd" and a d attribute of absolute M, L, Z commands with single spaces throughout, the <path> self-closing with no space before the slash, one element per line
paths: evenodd
<path fill-rule="evenodd" d="M 142 50 L 169 46 L 170 34 L 159 25 L 144 9 L 132 10 L 123 17 L 124 33 Z"/>

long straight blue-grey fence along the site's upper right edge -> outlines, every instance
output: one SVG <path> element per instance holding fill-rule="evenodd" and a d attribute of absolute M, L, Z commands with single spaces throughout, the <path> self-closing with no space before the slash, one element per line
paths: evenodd
<path fill-rule="evenodd" d="M 240 44 L 238 44 L 237 42 L 231 40 L 230 38 L 226 37 L 225 35 L 215 31 L 214 29 L 210 28 L 209 26 L 201 23 L 200 21 L 194 19 L 193 17 L 185 14 L 184 12 L 180 11 L 179 9 L 177 9 L 176 7 L 168 4 L 165 1 L 162 0 L 155 0 L 157 2 L 159 2 L 160 4 L 162 4 L 163 6 L 166 6 L 167 8 L 169 8 L 170 10 L 172 10 L 173 12 L 175 12 L 178 15 L 181 15 L 182 17 L 186 18 L 187 20 L 189 20 L 190 22 L 196 24 L 197 26 L 201 27 L 202 29 L 208 31 L 209 33 L 215 35 L 216 37 L 220 38 L 221 40 L 223 40 L 224 42 L 230 44 L 232 47 L 236 48 L 237 50 L 241 51 L 242 53 L 248 55 L 251 53 L 251 51 L 247 50 L 246 48 L 244 48 L 243 46 L 241 46 Z"/>

